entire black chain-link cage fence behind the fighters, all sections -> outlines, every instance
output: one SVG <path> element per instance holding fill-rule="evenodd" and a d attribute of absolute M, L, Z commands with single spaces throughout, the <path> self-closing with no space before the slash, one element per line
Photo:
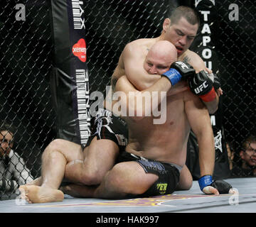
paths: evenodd
<path fill-rule="evenodd" d="M 103 94 L 124 46 L 138 38 L 159 36 L 169 8 L 191 4 L 191 1 L 168 0 L 83 2 L 90 92 Z M 17 4 L 25 6 L 25 20 L 21 8 L 16 9 Z M 239 7 L 236 21 L 230 20 L 230 4 Z M 35 178 L 40 175 L 43 150 L 56 138 L 50 91 L 53 60 L 50 1 L 1 0 L 0 7 L 1 125 L 9 123 L 14 128 L 13 150 Z M 215 1 L 215 7 L 218 11 L 215 48 L 220 61 L 223 127 L 231 150 L 231 168 L 242 165 L 242 142 L 255 134 L 256 6 L 248 0 L 225 0 L 221 4 Z M 5 174 L 0 173 L 0 180 L 5 179 Z M 6 189 L 0 189 L 1 198 L 6 198 Z"/>

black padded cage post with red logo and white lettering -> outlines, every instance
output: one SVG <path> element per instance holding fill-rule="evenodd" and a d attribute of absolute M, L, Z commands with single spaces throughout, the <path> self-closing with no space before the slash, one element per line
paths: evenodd
<path fill-rule="evenodd" d="M 58 137 L 85 145 L 90 135 L 89 76 L 83 0 L 52 0 L 51 85 Z"/>

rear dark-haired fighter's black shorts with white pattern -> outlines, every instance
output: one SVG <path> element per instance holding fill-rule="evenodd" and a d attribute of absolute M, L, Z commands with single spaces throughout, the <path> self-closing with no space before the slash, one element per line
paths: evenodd
<path fill-rule="evenodd" d="M 90 137 L 85 147 L 89 146 L 92 139 L 97 136 L 97 140 L 112 140 L 124 150 L 128 142 L 127 123 L 117 116 L 114 116 L 107 109 L 99 109 L 95 117 L 91 118 Z"/>

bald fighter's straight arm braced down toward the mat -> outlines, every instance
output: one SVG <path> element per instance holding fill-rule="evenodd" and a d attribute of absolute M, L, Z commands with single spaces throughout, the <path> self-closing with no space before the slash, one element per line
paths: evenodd
<path fill-rule="evenodd" d="M 185 111 L 191 129 L 198 139 L 201 176 L 213 175 L 215 148 L 208 111 L 200 99 L 191 92 L 186 92 Z"/>

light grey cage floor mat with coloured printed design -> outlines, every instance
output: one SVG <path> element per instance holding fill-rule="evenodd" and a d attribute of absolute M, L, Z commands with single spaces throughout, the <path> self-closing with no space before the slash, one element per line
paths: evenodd
<path fill-rule="evenodd" d="M 0 201 L 1 213 L 255 213 L 256 177 L 226 179 L 238 195 L 201 193 L 194 181 L 188 191 L 140 199 L 77 199 L 63 202 L 28 204 L 21 199 Z"/>

